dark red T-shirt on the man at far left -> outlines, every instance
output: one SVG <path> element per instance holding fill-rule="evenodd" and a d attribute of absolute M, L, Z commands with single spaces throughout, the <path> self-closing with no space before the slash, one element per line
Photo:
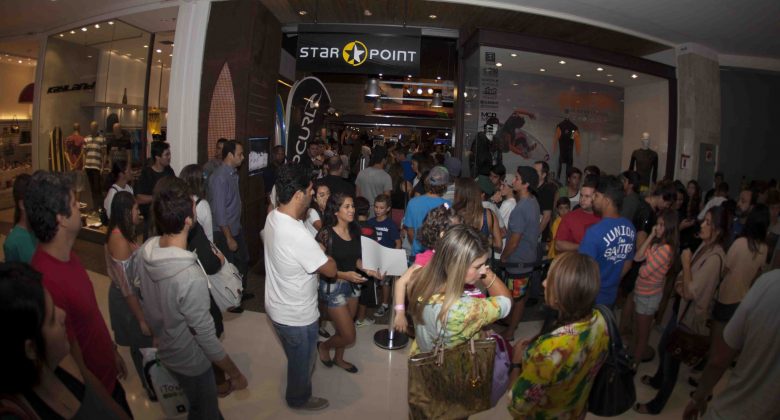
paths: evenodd
<path fill-rule="evenodd" d="M 114 342 L 81 261 L 71 252 L 70 261 L 62 262 L 39 247 L 30 265 L 43 275 L 43 286 L 51 294 L 54 305 L 65 311 L 68 337 L 78 341 L 87 368 L 111 394 L 118 373 Z"/>

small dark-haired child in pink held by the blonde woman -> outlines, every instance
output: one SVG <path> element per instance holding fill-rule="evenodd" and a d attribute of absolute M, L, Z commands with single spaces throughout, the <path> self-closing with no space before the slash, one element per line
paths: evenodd
<path fill-rule="evenodd" d="M 393 322 L 393 328 L 396 331 L 405 332 L 409 334 L 412 330 L 407 330 L 409 323 L 406 319 L 406 290 L 409 286 L 409 280 L 412 278 L 412 274 L 418 269 L 425 267 L 428 262 L 433 258 L 433 254 L 436 252 L 434 246 L 439 238 L 444 236 L 444 233 L 450 226 L 459 225 L 463 223 L 463 219 L 455 212 L 455 210 L 449 204 L 445 203 L 436 207 L 428 212 L 425 216 L 423 224 L 420 230 L 417 232 L 420 244 L 423 246 L 424 251 L 418 253 L 415 256 L 414 264 L 409 267 L 408 270 L 395 282 L 393 287 L 393 309 L 395 310 L 395 320 Z"/>

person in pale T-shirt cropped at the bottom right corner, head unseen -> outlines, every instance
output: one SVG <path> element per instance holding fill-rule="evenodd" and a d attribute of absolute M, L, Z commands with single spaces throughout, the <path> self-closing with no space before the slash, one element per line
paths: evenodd
<path fill-rule="evenodd" d="M 705 419 L 777 419 L 780 418 L 780 270 L 758 279 L 739 304 L 737 311 L 715 339 L 709 363 L 699 387 L 685 408 L 683 417 Z M 739 356 L 725 389 L 707 409 L 707 396 Z"/>

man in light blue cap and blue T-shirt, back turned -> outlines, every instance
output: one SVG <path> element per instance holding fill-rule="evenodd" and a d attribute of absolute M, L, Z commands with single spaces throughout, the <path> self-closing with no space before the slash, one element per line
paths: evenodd
<path fill-rule="evenodd" d="M 444 203 L 452 204 L 449 200 L 442 198 L 444 192 L 447 191 L 447 185 L 450 183 L 450 174 L 447 172 L 447 168 L 443 166 L 434 167 L 428 173 L 424 183 L 425 194 L 409 200 L 409 204 L 406 206 L 406 213 L 404 214 L 403 225 L 406 228 L 409 242 L 412 243 L 412 256 L 423 251 L 420 241 L 417 240 L 417 229 L 422 226 L 428 212 Z"/>

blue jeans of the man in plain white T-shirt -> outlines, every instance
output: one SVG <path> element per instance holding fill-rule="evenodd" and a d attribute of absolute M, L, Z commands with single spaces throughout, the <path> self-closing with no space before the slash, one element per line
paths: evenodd
<path fill-rule="evenodd" d="M 287 356 L 287 390 L 284 398 L 290 407 L 300 407 L 311 398 L 311 374 L 317 354 L 318 322 L 304 327 L 271 321 Z"/>

